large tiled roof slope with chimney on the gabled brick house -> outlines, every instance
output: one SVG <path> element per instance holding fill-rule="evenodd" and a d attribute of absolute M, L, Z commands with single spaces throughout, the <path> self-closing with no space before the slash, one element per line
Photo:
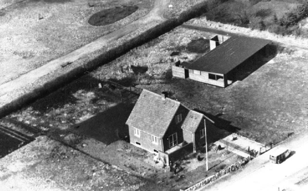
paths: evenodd
<path fill-rule="evenodd" d="M 180 105 L 178 101 L 162 99 L 161 95 L 144 89 L 126 124 L 162 138 Z"/>

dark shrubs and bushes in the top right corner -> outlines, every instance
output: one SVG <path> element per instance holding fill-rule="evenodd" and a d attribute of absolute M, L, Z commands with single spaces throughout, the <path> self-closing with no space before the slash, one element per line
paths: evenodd
<path fill-rule="evenodd" d="M 204 15 L 209 20 L 231 23 L 252 29 L 269 30 L 276 34 L 307 36 L 307 30 L 299 23 L 307 17 L 308 1 L 280 0 L 229 0 Z"/>

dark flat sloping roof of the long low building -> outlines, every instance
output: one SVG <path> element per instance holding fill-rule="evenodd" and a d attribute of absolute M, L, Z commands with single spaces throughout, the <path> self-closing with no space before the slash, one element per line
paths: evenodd
<path fill-rule="evenodd" d="M 227 74 L 270 42 L 261 38 L 233 36 L 195 62 L 182 65 L 188 69 Z"/>

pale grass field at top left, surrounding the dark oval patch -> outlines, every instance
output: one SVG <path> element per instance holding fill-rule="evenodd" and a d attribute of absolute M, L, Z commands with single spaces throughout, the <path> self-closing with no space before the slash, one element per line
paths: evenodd
<path fill-rule="evenodd" d="M 42 66 L 144 16 L 152 0 L 19 1 L 0 14 L 0 84 Z M 138 6 L 126 18 L 106 26 L 88 23 L 92 14 L 116 6 Z M 116 20 L 115 20 L 116 21 Z"/>

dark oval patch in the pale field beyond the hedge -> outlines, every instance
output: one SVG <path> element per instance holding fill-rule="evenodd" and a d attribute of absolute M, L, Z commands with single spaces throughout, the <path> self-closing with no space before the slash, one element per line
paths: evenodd
<path fill-rule="evenodd" d="M 94 26 L 109 25 L 127 17 L 128 15 L 134 13 L 137 9 L 137 6 L 123 6 L 101 10 L 93 14 L 88 22 Z"/>

